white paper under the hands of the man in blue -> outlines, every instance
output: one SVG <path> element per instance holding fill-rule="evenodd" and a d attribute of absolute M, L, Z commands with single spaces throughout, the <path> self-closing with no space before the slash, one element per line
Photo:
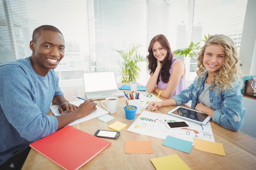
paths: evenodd
<path fill-rule="evenodd" d="M 71 104 L 74 104 L 76 106 L 79 106 L 80 104 L 82 104 L 84 101 L 83 100 L 77 100 L 75 102 L 70 102 Z M 84 122 L 84 121 L 88 121 L 90 119 L 94 119 L 94 118 L 97 118 L 97 117 L 101 117 L 103 115 L 106 115 L 108 114 L 108 111 L 102 109 L 101 107 L 99 106 L 96 106 L 97 107 L 97 110 L 95 110 L 93 113 L 91 113 L 90 115 L 88 116 L 85 116 L 85 117 L 82 117 L 80 119 L 77 119 L 73 122 L 71 122 L 70 124 L 68 125 L 74 125 L 74 124 L 79 124 L 81 122 Z M 61 115 L 61 113 L 58 111 L 58 108 L 59 106 L 58 105 L 53 105 L 50 107 L 50 109 L 52 110 L 52 113 L 55 115 L 55 116 L 58 116 L 58 115 Z M 64 112 L 64 114 L 66 113 L 66 111 Z"/>

